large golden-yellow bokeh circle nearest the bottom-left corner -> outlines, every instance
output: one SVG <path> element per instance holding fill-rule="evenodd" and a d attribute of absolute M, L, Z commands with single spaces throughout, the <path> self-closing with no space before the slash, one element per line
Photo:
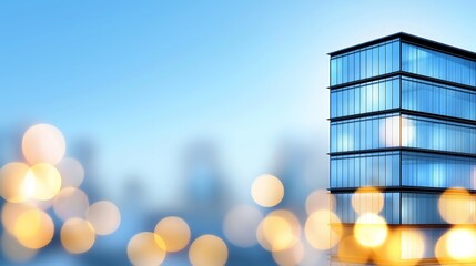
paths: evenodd
<path fill-rule="evenodd" d="M 16 221 L 14 236 L 28 248 L 41 248 L 53 238 L 54 224 L 47 213 L 40 209 L 23 212 Z"/>

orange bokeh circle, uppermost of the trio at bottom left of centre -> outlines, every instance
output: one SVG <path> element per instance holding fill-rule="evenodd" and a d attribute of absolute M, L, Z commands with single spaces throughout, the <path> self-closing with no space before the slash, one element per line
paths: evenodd
<path fill-rule="evenodd" d="M 168 253 L 182 250 L 190 242 L 190 227 L 185 221 L 176 216 L 161 219 L 154 231 L 165 244 Z"/>

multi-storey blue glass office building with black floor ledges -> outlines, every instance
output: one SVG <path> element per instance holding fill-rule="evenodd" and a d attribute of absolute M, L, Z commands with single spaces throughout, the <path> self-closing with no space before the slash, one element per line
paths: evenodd
<path fill-rule="evenodd" d="M 376 213 L 399 229 L 398 257 L 436 262 L 436 242 L 454 226 L 442 214 L 452 209 L 438 209 L 442 193 L 476 192 L 476 53 L 396 33 L 330 55 L 330 191 L 344 238 L 359 216 L 355 205 L 383 205 Z M 353 202 L 367 186 L 383 197 Z M 474 224 L 476 201 L 468 201 L 465 223 Z M 422 255 L 405 248 L 412 231 L 424 236 Z M 340 246 L 331 255 L 368 260 Z"/>

